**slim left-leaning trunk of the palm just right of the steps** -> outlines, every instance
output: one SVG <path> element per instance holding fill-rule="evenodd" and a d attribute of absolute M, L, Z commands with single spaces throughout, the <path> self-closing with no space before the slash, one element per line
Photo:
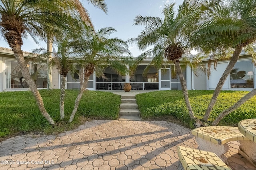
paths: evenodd
<path fill-rule="evenodd" d="M 182 69 L 180 67 L 180 61 L 177 60 L 177 59 L 174 59 L 174 65 L 175 65 L 175 68 L 177 70 L 178 76 L 180 78 L 180 84 L 181 84 L 183 96 L 184 96 L 184 99 L 185 99 L 185 103 L 186 103 L 186 106 L 187 106 L 187 109 L 188 109 L 188 114 L 190 116 L 190 119 L 196 119 L 196 117 L 193 113 L 192 107 L 190 105 L 189 99 L 188 99 L 188 90 L 187 90 L 187 86 L 186 86 L 186 81 L 184 79 L 184 74 L 183 74 Z"/>

